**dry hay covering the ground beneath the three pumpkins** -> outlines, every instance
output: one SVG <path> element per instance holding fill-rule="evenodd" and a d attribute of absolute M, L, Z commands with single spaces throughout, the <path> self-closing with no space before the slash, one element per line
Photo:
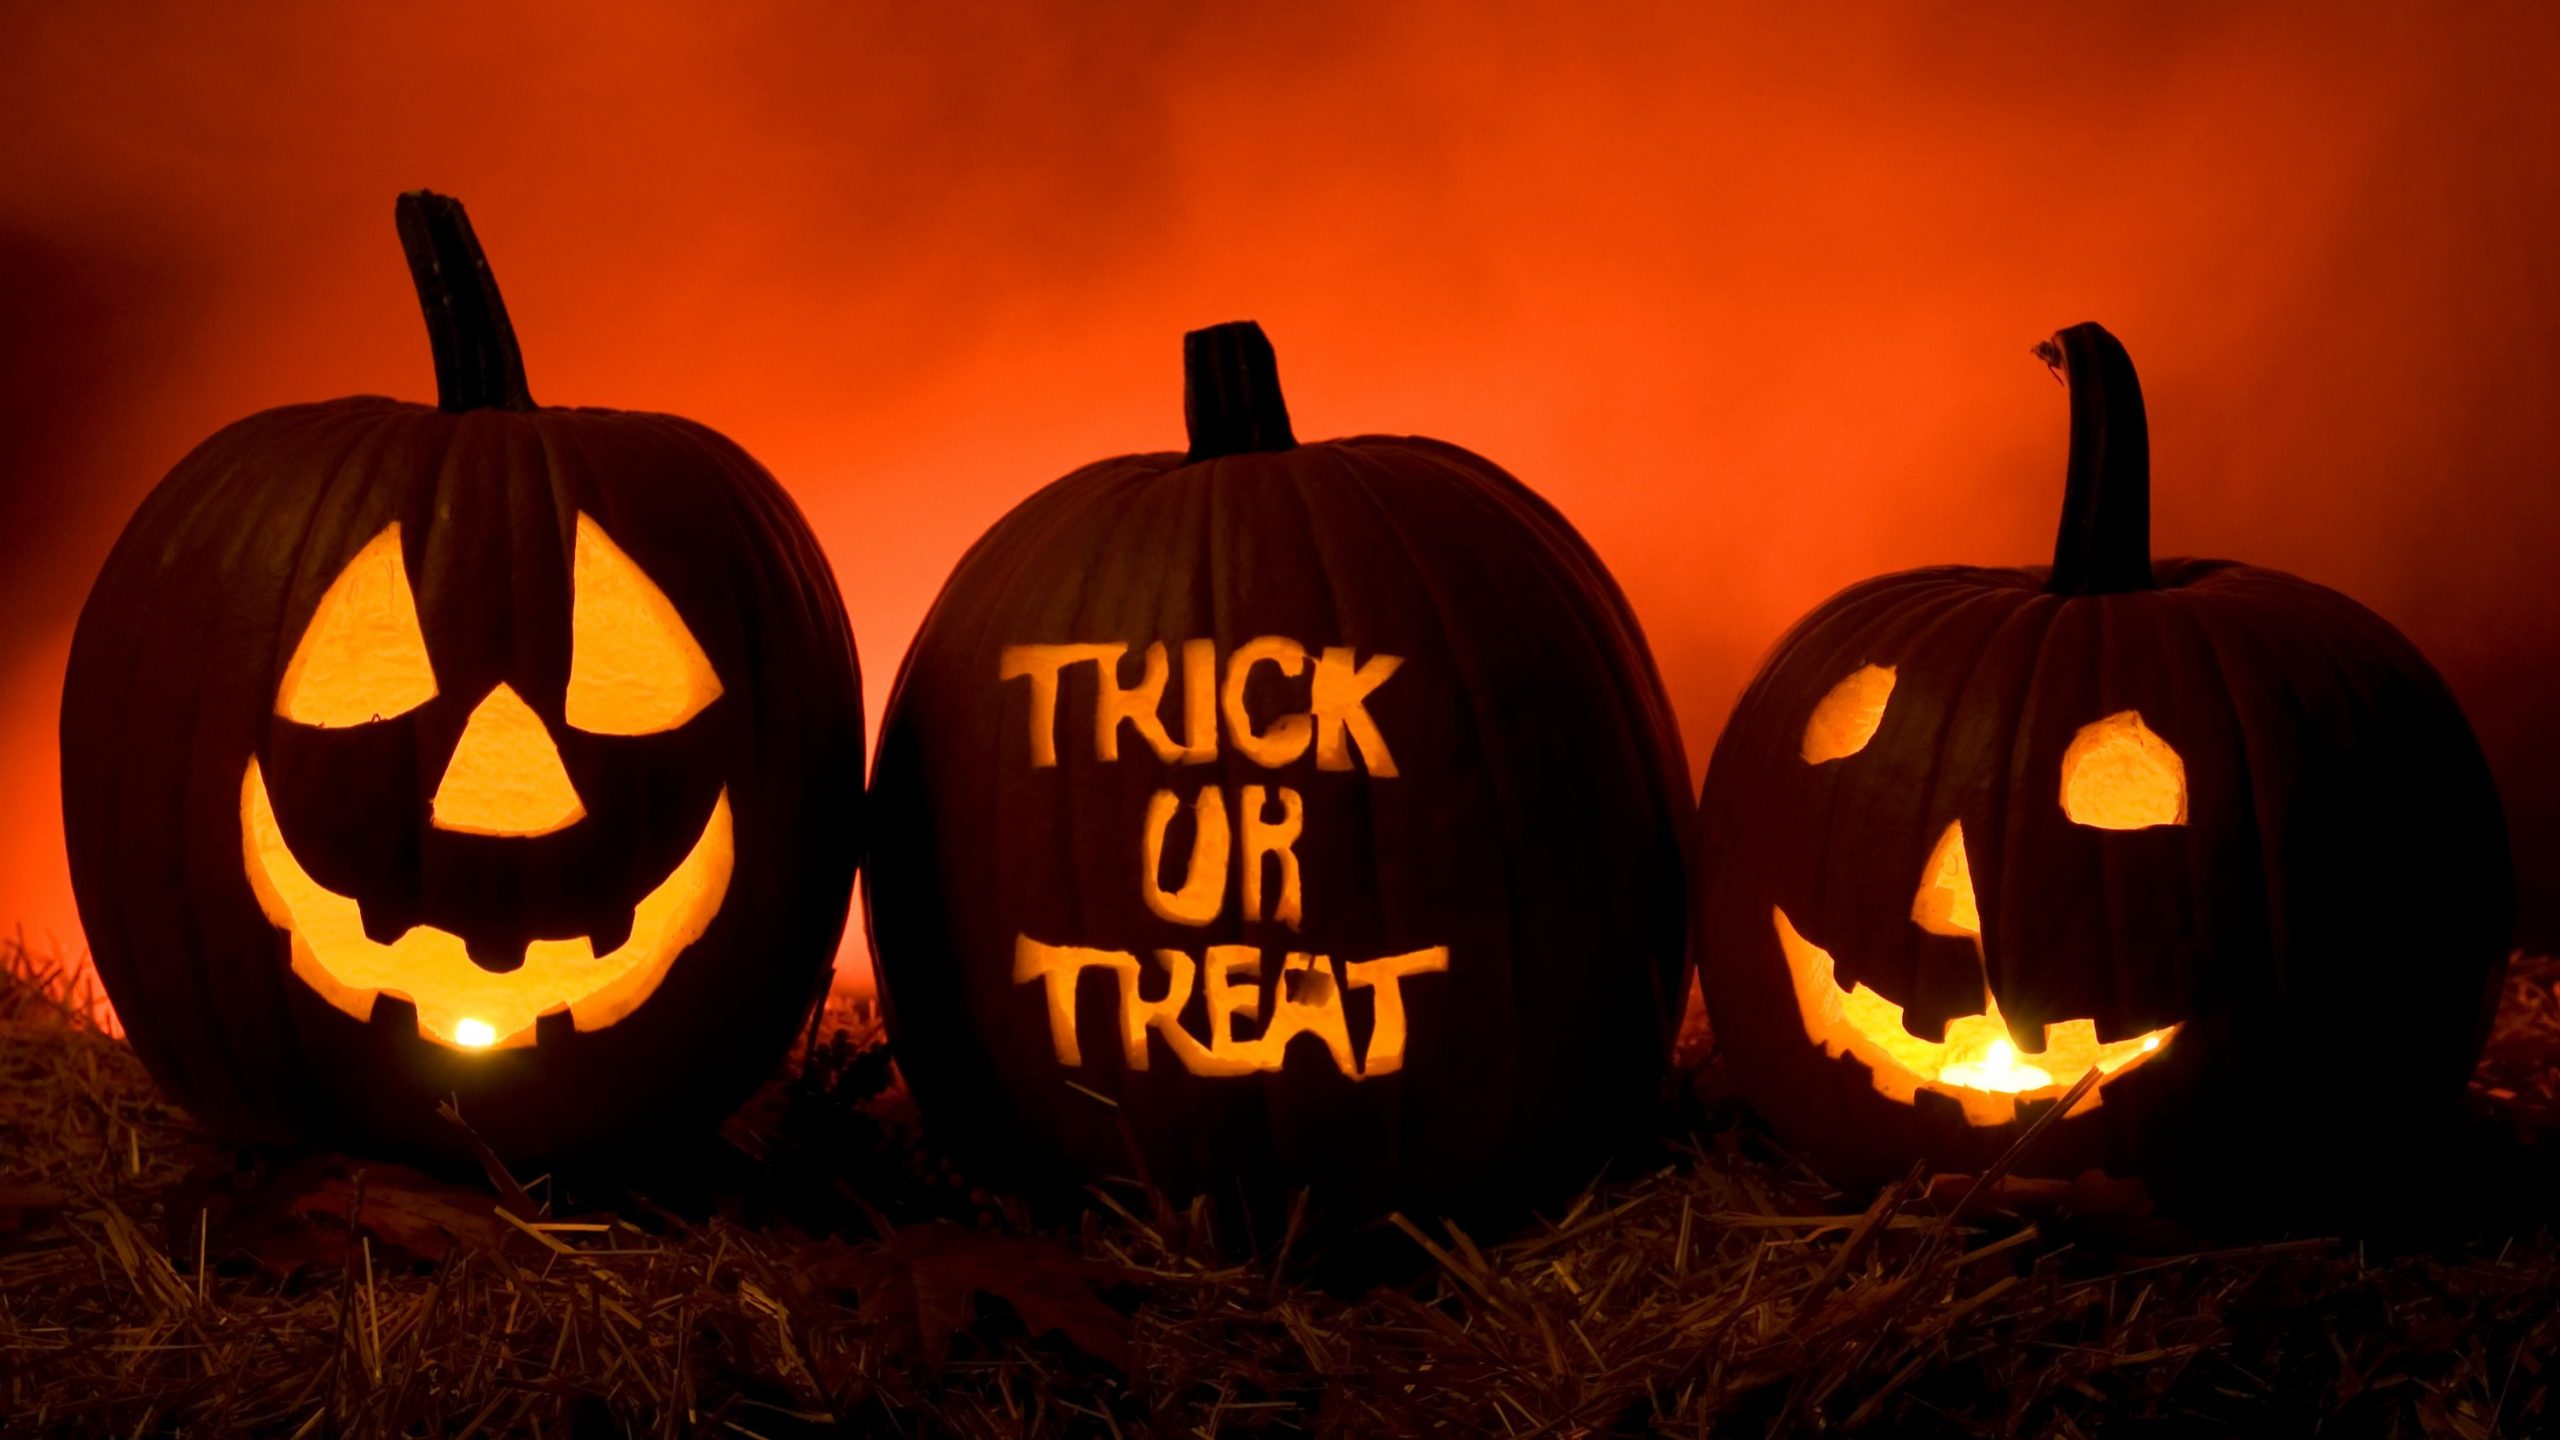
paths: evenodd
<path fill-rule="evenodd" d="M 870 1017 L 648 1194 L 502 1199 L 215 1150 L 64 974 L 0 956 L 10 1435 L 2540 1435 L 2547 1225 L 2196 1250 L 2102 1184 L 1843 1207 L 1725 1102 L 1505 1243 L 1395 1220 L 1398 1284 L 1106 1191 L 1039 1217 L 919 1150 Z M 2476 1125 L 2547 1156 L 2560 966 Z M 69 1002 L 67 1002 L 69 999 Z M 1708 1071 L 1713 1074 L 1713 1071 Z M 512 1181 L 499 1181 L 512 1189 Z M 2550 1215 L 2550 1209 L 2545 1209 Z"/>

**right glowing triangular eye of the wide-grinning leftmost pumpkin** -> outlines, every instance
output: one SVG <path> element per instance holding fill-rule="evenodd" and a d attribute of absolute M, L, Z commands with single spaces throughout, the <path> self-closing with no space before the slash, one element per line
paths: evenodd
<path fill-rule="evenodd" d="M 655 735 L 719 700 L 719 674 L 676 605 L 579 515 L 566 717 L 591 735 Z"/>

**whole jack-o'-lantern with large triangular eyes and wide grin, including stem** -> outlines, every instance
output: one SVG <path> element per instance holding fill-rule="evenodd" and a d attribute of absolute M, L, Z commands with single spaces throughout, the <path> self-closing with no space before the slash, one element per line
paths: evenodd
<path fill-rule="evenodd" d="M 64 828 L 136 1051 L 218 1130 L 512 1158 L 717 1115 L 852 889 L 863 705 L 745 451 L 545 410 L 458 202 L 399 197 L 440 405 L 241 420 L 72 643 Z"/>

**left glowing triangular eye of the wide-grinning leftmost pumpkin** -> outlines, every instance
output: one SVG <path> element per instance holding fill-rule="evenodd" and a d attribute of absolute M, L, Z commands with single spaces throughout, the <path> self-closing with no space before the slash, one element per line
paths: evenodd
<path fill-rule="evenodd" d="M 340 730 L 407 715 L 430 700 L 435 666 L 428 664 L 410 566 L 399 559 L 399 525 L 392 523 L 346 561 L 320 597 L 276 687 L 276 715 Z"/>

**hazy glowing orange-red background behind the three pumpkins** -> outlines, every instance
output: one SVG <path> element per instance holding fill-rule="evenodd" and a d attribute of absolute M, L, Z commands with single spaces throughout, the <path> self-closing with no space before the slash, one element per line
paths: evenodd
<path fill-rule="evenodd" d="M 691 415 L 794 489 L 873 723 L 960 551 L 1178 446 L 1180 333 L 1249 315 L 1300 436 L 1444 436 L 1556 500 L 1702 764 L 1841 584 L 2051 551 L 2028 346 L 2104 320 L 2161 551 L 2406 628 L 2560 940 L 2560 8 L 138 10 L 0 10 L 0 925 L 36 943 L 79 933 L 90 577 L 218 425 L 433 397 L 422 184 L 538 400 Z"/>

